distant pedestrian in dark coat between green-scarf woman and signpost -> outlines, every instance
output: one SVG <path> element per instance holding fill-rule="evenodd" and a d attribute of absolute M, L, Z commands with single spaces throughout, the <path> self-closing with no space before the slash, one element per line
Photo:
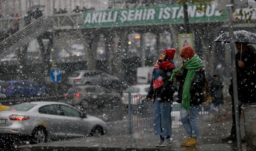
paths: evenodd
<path fill-rule="evenodd" d="M 219 75 L 213 75 L 213 81 L 210 83 L 211 92 L 211 110 L 213 111 L 217 106 L 217 112 L 220 112 L 220 106 L 223 104 L 223 84 L 220 81 Z"/>

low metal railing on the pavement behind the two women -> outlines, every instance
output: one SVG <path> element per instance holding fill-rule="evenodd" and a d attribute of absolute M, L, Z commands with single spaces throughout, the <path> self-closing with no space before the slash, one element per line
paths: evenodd
<path fill-rule="evenodd" d="M 128 96 L 128 133 L 134 131 L 145 131 L 153 128 L 153 101 L 147 100 L 146 95 L 131 95 Z M 172 127 L 182 125 L 180 119 L 181 104 L 172 103 L 171 119 Z M 199 108 L 199 116 L 209 114 L 209 105 L 203 103 Z"/>

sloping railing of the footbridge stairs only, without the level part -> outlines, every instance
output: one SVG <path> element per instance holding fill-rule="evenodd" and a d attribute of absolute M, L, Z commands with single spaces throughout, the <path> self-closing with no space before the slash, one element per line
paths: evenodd
<path fill-rule="evenodd" d="M 47 21 L 44 19 L 44 17 L 41 17 L 35 20 L 34 22 L 28 24 L 28 26 L 24 27 L 23 29 L 10 35 L 8 38 L 4 39 L 0 43 L 0 53 L 5 49 L 8 49 L 9 47 L 13 46 L 14 44 L 23 41 L 25 37 L 37 32 L 38 30 L 43 29 L 47 30 Z M 40 34 L 40 32 L 37 33 Z M 25 44 L 26 42 L 23 41 L 23 43 Z"/>

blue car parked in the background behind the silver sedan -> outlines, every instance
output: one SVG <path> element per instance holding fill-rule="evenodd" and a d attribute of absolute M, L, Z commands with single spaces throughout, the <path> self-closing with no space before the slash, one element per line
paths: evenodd
<path fill-rule="evenodd" d="M 33 80 L 14 80 L 6 81 L 2 84 L 1 93 L 6 95 L 6 98 L 21 98 L 47 96 L 48 89 L 38 84 Z"/>

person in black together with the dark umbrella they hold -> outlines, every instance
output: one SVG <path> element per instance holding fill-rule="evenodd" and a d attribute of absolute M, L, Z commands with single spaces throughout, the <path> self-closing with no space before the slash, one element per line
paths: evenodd
<path fill-rule="evenodd" d="M 232 141 L 236 141 L 236 118 L 235 114 L 240 117 L 241 116 L 241 107 L 242 104 L 254 103 L 256 102 L 255 97 L 255 71 L 256 71 L 256 61 L 255 61 L 255 48 L 248 44 L 256 44 L 256 35 L 245 31 L 245 30 L 237 30 L 233 32 L 234 43 L 238 53 L 235 54 L 235 71 L 236 71 L 236 83 L 237 86 L 237 94 L 233 92 L 233 83 L 231 79 L 231 85 L 229 87 L 229 94 L 232 98 L 232 128 L 231 134 L 227 138 L 222 139 L 225 142 L 232 143 Z M 215 42 L 225 42 L 229 43 L 230 41 L 229 32 L 223 33 L 218 36 L 214 41 Z M 231 53 L 232 54 L 232 53 Z M 231 57 L 232 58 L 232 57 Z M 232 61 L 232 60 L 231 60 Z M 238 107 L 235 107 L 234 104 L 234 95 L 237 95 Z M 238 109 L 237 109 L 238 108 Z M 239 118 L 238 118 L 239 119 Z M 237 121 L 240 123 L 240 121 Z M 245 141 L 245 139 L 242 139 Z"/>

